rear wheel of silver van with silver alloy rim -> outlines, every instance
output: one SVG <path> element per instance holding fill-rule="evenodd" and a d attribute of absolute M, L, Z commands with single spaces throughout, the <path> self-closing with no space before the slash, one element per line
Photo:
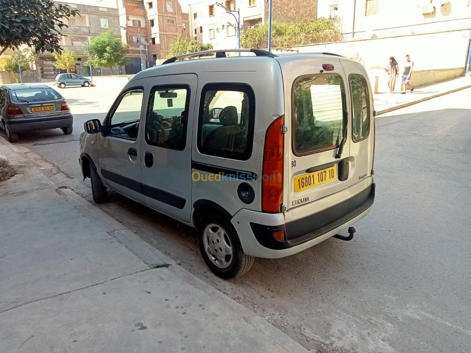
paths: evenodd
<path fill-rule="evenodd" d="M 242 276 L 253 265 L 254 257 L 244 254 L 234 227 L 218 214 L 200 220 L 198 244 L 206 265 L 221 278 Z"/>

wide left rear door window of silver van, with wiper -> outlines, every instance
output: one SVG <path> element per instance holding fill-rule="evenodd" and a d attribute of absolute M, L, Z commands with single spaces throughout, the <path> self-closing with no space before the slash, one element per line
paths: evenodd
<path fill-rule="evenodd" d="M 309 154 L 338 146 L 344 111 L 345 88 L 339 75 L 297 80 L 293 92 L 294 152 Z"/>

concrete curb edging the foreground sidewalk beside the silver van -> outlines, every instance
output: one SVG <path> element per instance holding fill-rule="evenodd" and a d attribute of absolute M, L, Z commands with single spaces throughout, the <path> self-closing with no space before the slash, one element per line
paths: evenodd
<path fill-rule="evenodd" d="M 219 290 L 211 287 L 211 285 L 200 280 L 192 273 L 189 273 L 187 270 L 180 267 L 178 264 L 175 264 L 175 262 L 170 257 L 167 257 L 161 251 L 155 249 L 152 245 L 144 241 L 138 235 L 132 233 L 126 226 L 122 225 L 113 217 L 109 216 L 107 213 L 82 198 L 73 190 L 66 187 L 47 168 L 40 168 L 38 162 L 29 156 L 31 152 L 30 150 L 22 146 L 23 150 L 28 150 L 30 152 L 21 152 L 18 150 L 18 148 L 15 147 L 15 145 L 10 144 L 4 137 L 1 136 L 0 144 L 7 145 L 13 152 L 16 152 L 18 155 L 20 155 L 20 157 L 31 160 L 32 166 L 34 166 L 34 168 L 38 168 L 41 173 L 48 177 L 50 182 L 57 187 L 57 193 L 61 194 L 67 202 L 72 204 L 75 208 L 79 209 L 84 217 L 87 217 L 92 222 L 105 223 L 107 233 L 111 236 L 114 236 L 119 243 L 121 243 L 126 249 L 138 257 L 146 265 L 150 266 L 155 264 L 169 264 L 170 266 L 168 267 L 168 270 L 170 270 L 175 276 L 187 282 L 192 287 L 205 292 L 215 301 L 219 302 L 221 305 L 227 308 L 227 310 L 233 312 L 236 316 L 249 323 L 254 329 L 258 330 L 274 344 L 283 348 L 286 352 L 306 352 L 306 348 L 304 348 L 291 337 L 284 334 L 268 321 L 261 318 L 259 315 L 247 309 L 243 305 L 235 302 L 235 300 L 231 299 L 230 297 L 227 297 L 225 294 L 219 292 Z M 103 225 L 103 223 L 101 225 Z"/>

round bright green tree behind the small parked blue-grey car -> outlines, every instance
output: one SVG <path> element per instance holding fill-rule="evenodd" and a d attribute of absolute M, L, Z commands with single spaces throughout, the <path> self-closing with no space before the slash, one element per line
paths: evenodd
<path fill-rule="evenodd" d="M 129 59 L 124 57 L 128 53 L 129 46 L 121 41 L 121 38 L 114 37 L 108 30 L 90 40 L 91 65 L 93 67 L 109 67 L 113 75 L 114 65 L 124 65 L 129 63 Z M 87 47 L 83 46 L 84 54 Z M 88 55 L 88 54 L 87 54 Z M 87 60 L 84 65 L 88 65 Z"/>

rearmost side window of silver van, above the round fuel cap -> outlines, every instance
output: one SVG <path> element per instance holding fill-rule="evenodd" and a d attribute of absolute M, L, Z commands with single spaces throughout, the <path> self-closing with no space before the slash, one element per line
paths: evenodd
<path fill-rule="evenodd" d="M 248 160 L 252 155 L 255 96 L 242 84 L 209 84 L 201 93 L 198 150 Z"/>

